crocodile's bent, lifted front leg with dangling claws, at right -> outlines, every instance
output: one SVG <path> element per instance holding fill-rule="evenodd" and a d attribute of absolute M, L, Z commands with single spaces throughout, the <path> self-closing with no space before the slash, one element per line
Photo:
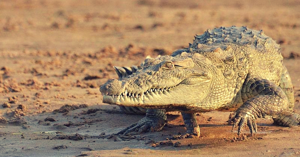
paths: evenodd
<path fill-rule="evenodd" d="M 242 86 L 241 96 L 244 103 L 228 121 L 229 123 L 233 122 L 232 130 L 238 127 L 238 135 L 242 133 L 245 125 L 249 127 L 252 135 L 257 132 L 257 118 L 292 114 L 289 100 L 283 90 L 261 77 L 248 75 Z M 299 125 L 296 120 L 292 124 Z"/>

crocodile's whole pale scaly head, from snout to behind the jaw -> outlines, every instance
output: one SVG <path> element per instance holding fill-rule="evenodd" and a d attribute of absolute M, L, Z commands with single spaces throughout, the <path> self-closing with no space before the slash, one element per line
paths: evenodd
<path fill-rule="evenodd" d="M 184 55 L 185 54 L 185 55 Z M 211 86 L 211 74 L 199 53 L 149 58 L 135 73 L 108 80 L 100 87 L 103 102 L 124 106 L 184 107 L 201 101 Z M 197 57 L 195 57 L 197 56 Z"/>

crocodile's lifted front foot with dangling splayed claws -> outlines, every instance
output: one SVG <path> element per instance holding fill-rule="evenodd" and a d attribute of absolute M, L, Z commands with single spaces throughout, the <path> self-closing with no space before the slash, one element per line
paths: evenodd
<path fill-rule="evenodd" d="M 256 125 L 256 118 L 251 113 L 244 113 L 236 111 L 235 113 L 229 116 L 228 124 L 232 123 L 232 132 L 233 130 L 238 127 L 238 136 L 242 134 L 242 130 L 245 125 L 247 125 L 250 129 L 251 136 L 254 135 L 254 132 L 257 133 L 257 125 Z"/>

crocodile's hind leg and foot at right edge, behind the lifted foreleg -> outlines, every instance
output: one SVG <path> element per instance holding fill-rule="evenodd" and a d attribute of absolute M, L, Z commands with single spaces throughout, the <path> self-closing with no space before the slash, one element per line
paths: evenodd
<path fill-rule="evenodd" d="M 283 67 L 283 71 L 280 76 L 279 86 L 285 93 L 287 99 L 289 100 L 289 110 L 291 110 L 291 113 L 273 116 L 274 124 L 288 127 L 296 125 L 300 122 L 300 115 L 292 112 L 294 108 L 294 90 L 291 77 L 289 76 L 289 72 L 287 71 L 286 67 Z"/>

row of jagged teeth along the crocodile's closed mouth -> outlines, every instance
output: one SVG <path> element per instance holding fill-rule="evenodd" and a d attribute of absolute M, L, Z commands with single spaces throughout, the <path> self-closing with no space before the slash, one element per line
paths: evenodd
<path fill-rule="evenodd" d="M 103 102 L 109 104 L 122 104 L 122 102 L 136 102 L 136 103 L 143 103 L 143 101 L 150 97 L 156 97 L 161 94 L 167 94 L 171 90 L 173 90 L 176 86 L 166 87 L 166 88 L 151 88 L 148 89 L 146 92 L 143 93 L 131 93 L 128 92 L 127 89 L 120 95 L 114 95 L 110 93 L 102 93 L 103 95 Z"/>

